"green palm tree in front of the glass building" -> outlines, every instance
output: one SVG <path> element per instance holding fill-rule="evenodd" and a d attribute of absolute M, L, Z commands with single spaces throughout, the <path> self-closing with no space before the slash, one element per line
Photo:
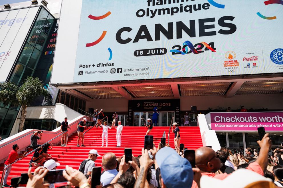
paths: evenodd
<path fill-rule="evenodd" d="M 43 87 L 39 78 L 28 77 L 21 86 L 12 82 L 0 83 L 0 100 L 6 104 L 11 103 L 11 105 L 21 105 L 22 107 L 19 132 L 24 129 L 28 105 L 42 95 L 45 97 L 45 105 L 53 104 L 51 94 Z"/>

